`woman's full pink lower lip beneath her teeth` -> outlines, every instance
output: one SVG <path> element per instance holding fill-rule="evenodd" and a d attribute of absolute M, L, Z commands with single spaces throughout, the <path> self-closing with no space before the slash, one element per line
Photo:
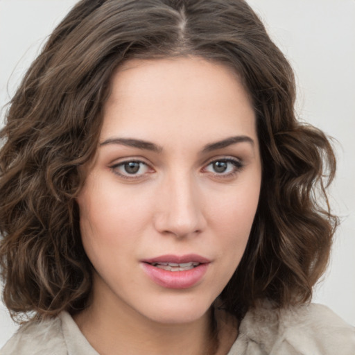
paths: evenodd
<path fill-rule="evenodd" d="M 165 288 L 190 288 L 200 282 L 205 275 L 209 263 L 201 263 L 190 270 L 168 271 L 156 268 L 150 263 L 142 263 L 143 269 L 155 284 Z"/>

